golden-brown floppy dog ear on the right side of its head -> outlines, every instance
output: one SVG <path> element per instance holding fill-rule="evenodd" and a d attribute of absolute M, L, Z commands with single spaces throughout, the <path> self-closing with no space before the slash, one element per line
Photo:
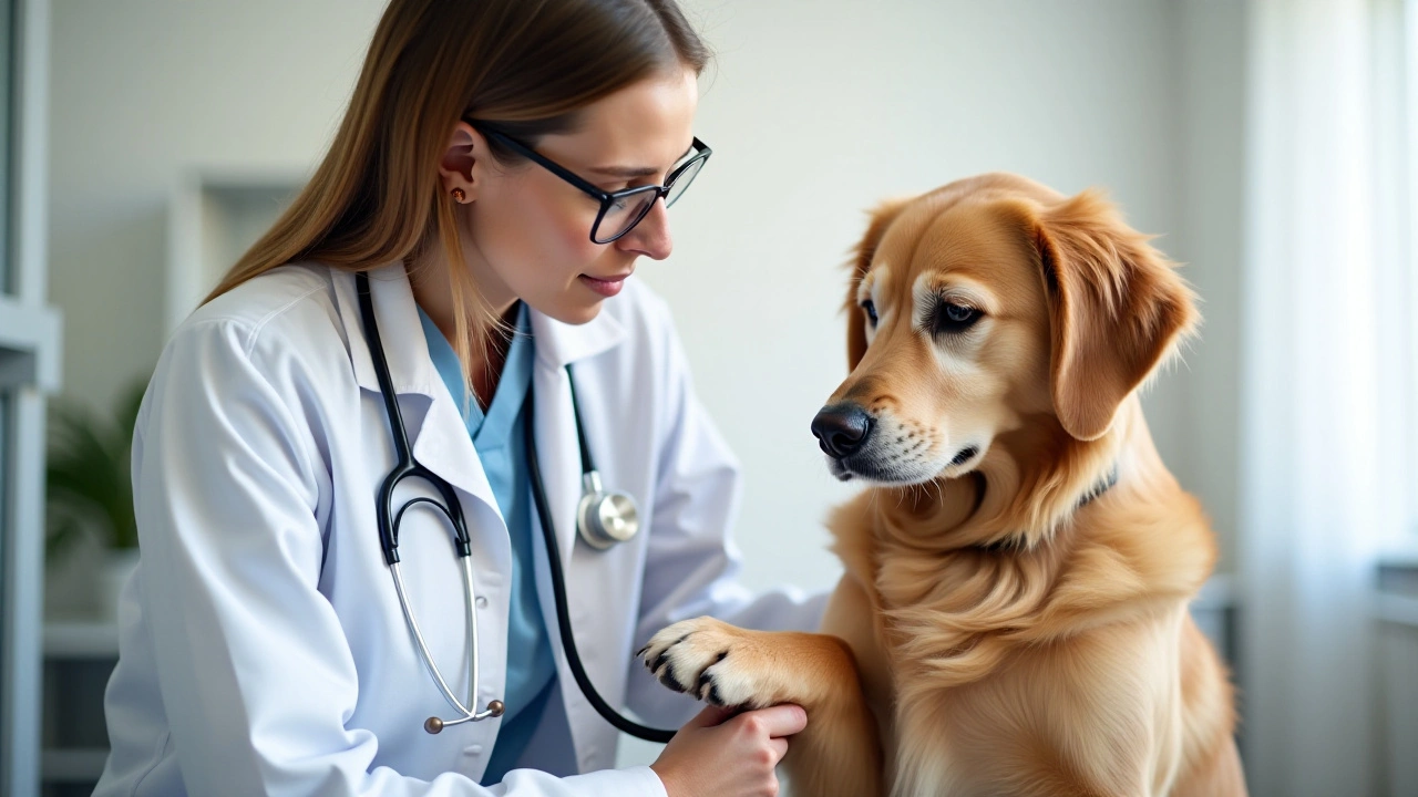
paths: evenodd
<path fill-rule="evenodd" d="M 1034 234 L 1049 301 L 1054 408 L 1072 437 L 1096 440 L 1195 329 L 1194 296 L 1098 191 L 1045 207 Z"/>

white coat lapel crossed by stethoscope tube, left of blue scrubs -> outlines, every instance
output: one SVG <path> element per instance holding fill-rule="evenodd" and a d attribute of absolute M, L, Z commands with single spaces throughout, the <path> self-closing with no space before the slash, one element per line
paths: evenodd
<path fill-rule="evenodd" d="M 335 298 L 345 336 L 350 346 L 350 360 L 359 386 L 380 396 L 379 377 L 369 353 L 364 326 L 359 312 L 354 275 L 333 272 Z M 374 319 L 389 362 L 389 376 L 404 425 L 414 447 L 414 459 L 455 488 L 485 503 L 498 518 L 502 511 L 492 495 L 488 474 L 472 447 L 462 414 L 457 407 L 438 369 L 428 356 L 428 342 L 418 322 L 418 305 L 404 265 L 394 262 L 369 272 Z M 574 438 L 573 438 L 574 440 Z"/>

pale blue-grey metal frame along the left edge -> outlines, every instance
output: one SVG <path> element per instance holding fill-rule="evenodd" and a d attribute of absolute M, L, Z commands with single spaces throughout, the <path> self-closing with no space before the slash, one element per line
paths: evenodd
<path fill-rule="evenodd" d="M 60 383 L 60 315 L 45 306 L 50 3 L 11 0 L 10 294 L 0 295 L 0 390 L 10 397 L 0 485 L 0 796 L 40 791 L 44 397 Z"/>

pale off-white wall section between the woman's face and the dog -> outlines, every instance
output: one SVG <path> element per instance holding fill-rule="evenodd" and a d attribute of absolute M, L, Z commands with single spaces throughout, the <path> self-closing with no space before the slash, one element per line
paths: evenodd
<path fill-rule="evenodd" d="M 1107 187 L 1141 230 L 1180 213 L 1180 38 L 1164 1 L 695 3 L 719 48 L 713 165 L 645 275 L 675 306 L 700 393 L 743 458 L 752 581 L 838 572 L 817 526 L 848 495 L 808 423 L 845 376 L 847 250 L 876 200 L 1018 172 Z M 1205 197 L 1202 197 L 1205 199 Z M 1173 237 L 1161 245 L 1170 248 Z M 1184 447 L 1185 372 L 1150 397 Z"/>

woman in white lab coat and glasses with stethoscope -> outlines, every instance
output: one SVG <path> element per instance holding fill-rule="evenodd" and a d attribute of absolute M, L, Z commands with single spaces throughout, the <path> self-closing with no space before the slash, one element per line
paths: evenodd
<path fill-rule="evenodd" d="M 822 610 L 732 580 L 737 468 L 631 278 L 708 163 L 706 58 L 674 0 L 393 0 L 149 384 L 98 794 L 776 791 L 803 709 L 695 716 L 632 667 Z M 597 699 L 683 725 L 615 770 Z"/>

